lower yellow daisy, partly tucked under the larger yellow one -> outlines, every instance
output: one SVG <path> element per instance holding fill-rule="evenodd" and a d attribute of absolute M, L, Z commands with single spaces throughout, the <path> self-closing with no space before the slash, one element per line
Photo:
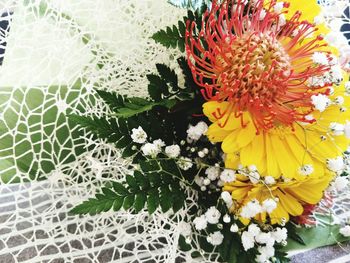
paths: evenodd
<path fill-rule="evenodd" d="M 324 189 L 328 186 L 332 176 L 327 174 L 322 178 L 305 178 L 291 182 L 277 182 L 274 185 L 266 186 L 263 183 L 253 184 L 249 179 L 240 177 L 237 181 L 228 183 L 223 190 L 232 193 L 235 204 L 232 211 L 240 216 L 241 208 L 251 200 L 263 203 L 268 199 L 276 199 L 277 207 L 269 213 L 272 224 L 288 221 L 290 215 L 298 216 L 303 213 L 304 204 L 317 204 L 323 196 Z M 263 211 L 255 216 L 255 219 L 265 222 L 267 212 Z M 248 223 L 249 219 L 240 219 Z"/>

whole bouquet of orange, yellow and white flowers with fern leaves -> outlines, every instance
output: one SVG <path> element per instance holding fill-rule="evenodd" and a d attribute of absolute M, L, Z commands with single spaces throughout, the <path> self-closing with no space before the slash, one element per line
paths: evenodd
<path fill-rule="evenodd" d="M 349 64 L 318 13 L 313 1 L 213 0 L 156 32 L 180 55 L 154 65 L 148 96 L 102 87 L 108 114 L 69 115 L 129 170 L 71 213 L 161 211 L 181 251 L 213 262 L 288 262 L 293 247 L 347 240 L 331 207 L 348 184 Z"/>

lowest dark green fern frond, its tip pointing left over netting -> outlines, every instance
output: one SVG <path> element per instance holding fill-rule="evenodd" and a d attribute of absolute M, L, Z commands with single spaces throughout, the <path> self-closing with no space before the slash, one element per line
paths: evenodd
<path fill-rule="evenodd" d="M 74 214 L 97 214 L 110 209 L 118 211 L 132 209 L 141 211 L 147 206 L 149 214 L 158 207 L 163 212 L 173 209 L 177 212 L 185 202 L 185 193 L 178 178 L 162 170 L 162 163 L 150 164 L 141 162 L 146 171 L 135 170 L 133 175 L 127 175 L 125 182 L 112 182 L 113 188 L 102 188 L 102 193 L 96 194 L 71 210 Z M 153 166 L 152 166 L 153 165 Z M 153 167 L 153 168 L 150 168 Z"/>

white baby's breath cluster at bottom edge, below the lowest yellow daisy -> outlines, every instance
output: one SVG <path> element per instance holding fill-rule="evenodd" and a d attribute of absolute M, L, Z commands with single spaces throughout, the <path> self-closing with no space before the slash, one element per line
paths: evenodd
<path fill-rule="evenodd" d="M 242 233 L 242 244 L 245 251 L 258 245 L 259 255 L 257 262 L 270 262 L 269 259 L 275 255 L 274 244 L 281 243 L 286 245 L 287 229 L 276 228 L 271 232 L 263 232 L 256 224 L 251 224 L 247 231 Z"/>

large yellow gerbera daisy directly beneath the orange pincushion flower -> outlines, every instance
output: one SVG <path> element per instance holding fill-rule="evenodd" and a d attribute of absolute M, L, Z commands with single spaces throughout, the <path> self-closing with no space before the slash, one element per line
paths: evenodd
<path fill-rule="evenodd" d="M 315 120 L 312 124 L 295 123 L 293 128 L 280 126 L 259 134 L 249 113 L 245 113 L 243 127 L 233 113 L 222 126 L 213 113 L 226 107 L 227 102 L 217 101 L 203 105 L 204 114 L 213 122 L 207 136 L 212 142 L 222 142 L 227 168 L 255 165 L 261 176 L 276 179 L 322 177 L 327 160 L 341 156 L 349 144 L 343 134 L 336 136 L 333 128 L 334 123 L 344 125 L 350 119 L 349 112 L 343 112 L 340 105 L 329 106 L 322 113 L 312 112 L 310 118 Z M 312 171 L 304 172 L 305 166 L 312 167 Z"/>

